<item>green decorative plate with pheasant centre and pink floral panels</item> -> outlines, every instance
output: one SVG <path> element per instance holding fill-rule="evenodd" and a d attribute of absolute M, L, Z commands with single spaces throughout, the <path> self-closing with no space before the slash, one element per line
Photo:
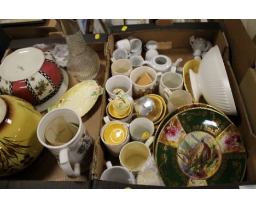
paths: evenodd
<path fill-rule="evenodd" d="M 156 134 L 154 155 L 167 186 L 240 182 L 246 170 L 241 134 L 224 114 L 210 108 L 169 114 Z"/>

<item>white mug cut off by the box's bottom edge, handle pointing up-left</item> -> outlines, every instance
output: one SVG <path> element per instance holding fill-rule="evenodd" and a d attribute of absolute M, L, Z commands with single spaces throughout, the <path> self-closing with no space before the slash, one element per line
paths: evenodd
<path fill-rule="evenodd" d="M 107 169 L 101 174 L 100 180 L 135 184 L 135 177 L 126 168 L 112 166 L 110 161 L 106 162 L 106 167 Z"/>

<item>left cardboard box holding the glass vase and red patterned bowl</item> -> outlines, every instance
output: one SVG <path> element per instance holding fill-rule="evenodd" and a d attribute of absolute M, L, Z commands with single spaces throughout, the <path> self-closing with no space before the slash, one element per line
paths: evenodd
<path fill-rule="evenodd" d="M 105 69 L 108 68 L 106 65 L 106 60 L 104 56 L 104 45 L 107 40 L 107 36 L 104 34 L 100 34 L 100 39 L 95 39 L 95 35 L 86 35 L 85 39 L 87 42 L 91 42 L 88 44 L 92 47 L 100 57 L 100 72 L 96 77 L 96 81 L 103 87 L 105 82 Z M 17 48 L 28 47 L 34 44 L 46 43 L 49 44 L 51 42 L 63 42 L 65 43 L 65 39 L 27 39 L 27 40 L 15 40 L 10 43 L 9 49 L 5 52 L 5 56 L 10 54 Z M 71 88 L 73 85 L 77 84 L 79 81 L 68 74 L 69 77 L 69 86 Z M 100 132 L 100 123 L 99 121 L 102 118 L 102 100 L 103 96 L 98 97 L 97 102 L 94 107 L 82 117 L 84 126 L 88 133 L 94 138 L 94 140 L 98 139 Z M 43 112 L 42 115 L 46 113 Z M 59 182 L 57 182 L 59 181 Z M 60 181 L 62 183 L 60 183 Z M 71 181 L 75 181 L 75 183 L 71 183 Z M 79 183 L 78 183 L 79 182 Z M 1 178 L 0 180 L 1 188 L 90 188 L 90 175 L 89 171 L 81 174 L 78 178 L 71 179 L 68 178 L 62 171 L 62 169 L 57 164 L 55 157 L 44 148 L 42 154 L 39 155 L 36 161 L 33 164 L 22 170 L 22 172 Z"/>

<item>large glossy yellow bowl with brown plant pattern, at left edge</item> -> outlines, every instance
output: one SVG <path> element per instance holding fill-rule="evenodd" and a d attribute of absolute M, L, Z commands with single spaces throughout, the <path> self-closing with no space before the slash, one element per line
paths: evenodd
<path fill-rule="evenodd" d="M 15 96 L 0 96 L 0 176 L 12 175 L 29 166 L 43 146 L 37 139 L 41 114 Z"/>

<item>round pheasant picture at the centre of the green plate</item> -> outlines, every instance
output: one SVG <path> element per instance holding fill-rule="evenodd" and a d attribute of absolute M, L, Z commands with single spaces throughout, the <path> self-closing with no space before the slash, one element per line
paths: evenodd
<path fill-rule="evenodd" d="M 189 133 L 179 145 L 177 162 L 183 173 L 194 179 L 214 175 L 221 163 L 222 152 L 217 141 L 205 132 Z"/>

